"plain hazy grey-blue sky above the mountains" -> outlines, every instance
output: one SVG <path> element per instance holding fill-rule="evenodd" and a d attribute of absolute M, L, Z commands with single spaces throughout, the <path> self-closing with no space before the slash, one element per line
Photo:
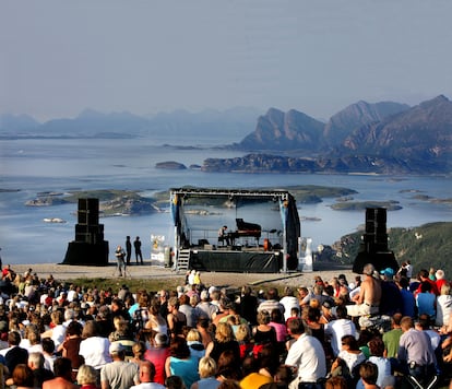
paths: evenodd
<path fill-rule="evenodd" d="M 0 114 L 452 97 L 450 0 L 2 0 Z"/>

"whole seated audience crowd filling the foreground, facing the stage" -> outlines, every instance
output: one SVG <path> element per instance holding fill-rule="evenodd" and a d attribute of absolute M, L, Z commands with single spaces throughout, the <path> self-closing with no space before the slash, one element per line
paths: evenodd
<path fill-rule="evenodd" d="M 451 284 L 409 263 L 313 285 L 86 288 L 2 269 L 0 382 L 16 388 L 404 388 L 452 367 Z M 452 388 L 452 386 L 451 386 Z"/>

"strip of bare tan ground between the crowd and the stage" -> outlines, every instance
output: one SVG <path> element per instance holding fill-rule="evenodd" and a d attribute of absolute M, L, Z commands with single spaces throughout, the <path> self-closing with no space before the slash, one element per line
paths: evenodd
<path fill-rule="evenodd" d="M 116 267 L 110 263 L 107 267 L 85 267 L 69 266 L 57 263 L 36 263 L 36 264 L 14 264 L 12 269 L 17 273 L 24 273 L 28 269 L 36 272 L 39 278 L 47 278 L 52 274 L 57 280 L 73 280 L 81 278 L 110 278 L 116 276 Z M 320 275 L 323 280 L 330 281 L 333 276 L 345 274 L 348 281 L 353 281 L 355 273 L 349 267 L 337 267 L 334 264 L 314 266 L 312 272 L 288 272 L 288 273 L 223 273 L 223 272 L 202 272 L 201 280 L 205 285 L 239 287 L 250 284 L 259 287 L 267 283 L 281 286 L 311 286 L 313 278 Z M 185 280 L 185 272 L 175 272 L 150 263 L 143 266 L 130 266 L 126 279 L 180 279 Z"/>

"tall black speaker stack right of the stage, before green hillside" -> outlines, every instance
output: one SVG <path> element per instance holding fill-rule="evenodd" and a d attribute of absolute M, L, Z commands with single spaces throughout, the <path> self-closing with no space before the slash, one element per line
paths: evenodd
<path fill-rule="evenodd" d="M 372 263 L 378 271 L 392 268 L 395 273 L 399 270 L 394 252 L 388 248 L 385 208 L 366 209 L 366 232 L 353 271 L 361 274 L 367 263 Z"/>

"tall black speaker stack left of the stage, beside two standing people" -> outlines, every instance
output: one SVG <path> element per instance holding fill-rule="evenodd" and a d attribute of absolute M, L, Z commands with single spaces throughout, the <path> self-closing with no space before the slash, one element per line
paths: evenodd
<path fill-rule="evenodd" d="M 79 199 L 75 240 L 69 243 L 63 263 L 108 264 L 108 241 L 104 240 L 104 224 L 99 224 L 99 199 Z"/>

